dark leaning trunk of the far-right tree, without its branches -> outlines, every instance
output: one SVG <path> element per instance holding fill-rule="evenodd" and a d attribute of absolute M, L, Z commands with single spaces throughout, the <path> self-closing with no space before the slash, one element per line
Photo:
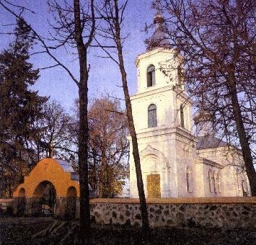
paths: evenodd
<path fill-rule="evenodd" d="M 250 182 L 252 196 L 255 197 L 256 196 L 256 172 L 253 166 L 250 143 L 245 133 L 244 123 L 242 120 L 242 113 L 241 113 L 239 102 L 237 99 L 237 87 L 236 87 L 235 75 L 233 71 L 229 73 L 229 88 L 230 88 L 234 117 L 237 125 L 237 133 L 239 136 L 239 142 L 242 147 L 242 156 L 244 159 L 247 176 Z"/>

